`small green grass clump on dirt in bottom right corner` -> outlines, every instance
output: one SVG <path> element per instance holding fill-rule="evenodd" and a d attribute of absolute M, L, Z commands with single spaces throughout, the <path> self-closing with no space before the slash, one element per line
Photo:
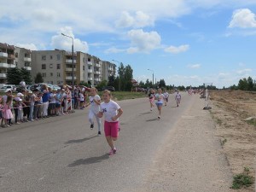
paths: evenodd
<path fill-rule="evenodd" d="M 249 176 L 249 168 L 244 167 L 244 171 L 233 177 L 232 189 L 241 189 L 241 187 L 249 187 L 253 184 L 253 176 Z"/>

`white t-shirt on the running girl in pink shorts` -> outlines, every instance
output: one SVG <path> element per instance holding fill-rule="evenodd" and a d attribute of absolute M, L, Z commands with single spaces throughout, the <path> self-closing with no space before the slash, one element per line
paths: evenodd
<path fill-rule="evenodd" d="M 108 103 L 106 103 L 106 102 L 101 103 L 100 111 L 105 114 L 106 121 L 116 122 L 116 121 L 119 121 L 119 119 L 116 119 L 115 121 L 113 121 L 111 118 L 113 116 L 117 115 L 119 108 L 120 108 L 120 106 L 118 103 L 110 100 Z"/>

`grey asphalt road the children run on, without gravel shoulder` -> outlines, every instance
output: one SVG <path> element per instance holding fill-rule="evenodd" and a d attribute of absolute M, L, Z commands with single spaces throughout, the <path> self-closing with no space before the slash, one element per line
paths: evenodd
<path fill-rule="evenodd" d="M 132 191 L 143 177 L 177 119 L 193 102 L 183 94 L 176 107 L 174 95 L 163 107 L 149 111 L 147 98 L 120 101 L 124 113 L 116 143 L 108 156 L 105 137 L 90 130 L 88 108 L 76 113 L 0 129 L 1 192 Z"/>

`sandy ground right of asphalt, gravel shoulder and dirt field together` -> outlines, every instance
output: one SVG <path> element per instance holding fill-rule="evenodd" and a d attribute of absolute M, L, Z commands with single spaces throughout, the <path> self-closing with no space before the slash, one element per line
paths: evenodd
<path fill-rule="evenodd" d="M 170 131 L 164 148 L 155 155 L 143 188 L 138 191 L 254 191 L 254 185 L 236 190 L 230 186 L 232 177 L 241 173 L 245 166 L 250 167 L 251 175 L 255 174 L 256 131 L 243 120 L 256 110 L 255 95 L 248 103 L 240 97 L 242 105 L 233 96 L 224 101 L 218 92 L 211 92 L 211 98 L 212 110 L 202 110 L 205 100 L 194 96 L 193 104 Z M 247 115 L 237 115 L 233 110 L 234 101 L 238 102 L 238 108 L 249 108 Z M 241 109 L 241 113 L 246 109 Z"/>

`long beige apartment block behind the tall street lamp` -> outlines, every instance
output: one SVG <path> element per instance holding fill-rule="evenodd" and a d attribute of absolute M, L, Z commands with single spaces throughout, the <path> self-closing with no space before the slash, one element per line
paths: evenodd
<path fill-rule="evenodd" d="M 96 86 L 104 79 L 108 81 L 114 70 L 113 63 L 80 51 L 73 57 L 65 50 L 32 51 L 32 78 L 42 73 L 44 83 L 72 85 L 74 80 L 75 85 L 85 82 Z"/>

